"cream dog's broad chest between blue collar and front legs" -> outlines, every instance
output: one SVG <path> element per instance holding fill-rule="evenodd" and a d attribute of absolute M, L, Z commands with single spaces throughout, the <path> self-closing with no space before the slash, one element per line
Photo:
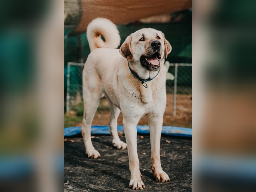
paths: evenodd
<path fill-rule="evenodd" d="M 147 82 L 148 88 L 145 88 L 130 74 L 126 78 L 119 75 L 118 93 L 122 113 L 140 117 L 163 113 L 166 104 L 165 81 L 157 79 Z"/>

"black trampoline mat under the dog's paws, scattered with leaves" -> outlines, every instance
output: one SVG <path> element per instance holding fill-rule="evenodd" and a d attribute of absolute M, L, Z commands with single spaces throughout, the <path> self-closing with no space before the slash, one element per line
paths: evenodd
<path fill-rule="evenodd" d="M 118 150 L 110 135 L 94 135 L 93 146 L 100 158 L 88 158 L 82 137 L 69 137 L 64 142 L 64 192 L 133 191 L 130 181 L 127 149 Z M 156 182 L 151 172 L 149 135 L 137 136 L 140 172 L 144 191 L 192 191 L 192 140 L 161 137 L 160 155 L 163 170 L 169 175 L 167 183 Z M 125 137 L 120 138 L 125 142 Z M 166 140 L 171 141 L 167 143 Z"/>

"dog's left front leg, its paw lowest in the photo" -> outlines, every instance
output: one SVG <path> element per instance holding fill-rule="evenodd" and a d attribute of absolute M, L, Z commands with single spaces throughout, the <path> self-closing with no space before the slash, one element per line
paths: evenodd
<path fill-rule="evenodd" d="M 138 190 L 145 188 L 145 185 L 141 180 L 140 162 L 137 153 L 137 123 L 138 122 L 135 123 L 131 120 L 125 120 L 125 117 L 123 119 L 124 133 L 129 156 L 129 169 L 131 172 L 129 188 Z"/>

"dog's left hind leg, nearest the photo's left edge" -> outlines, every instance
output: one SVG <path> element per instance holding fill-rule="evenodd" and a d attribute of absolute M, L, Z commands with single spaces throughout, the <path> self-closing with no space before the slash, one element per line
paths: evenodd
<path fill-rule="evenodd" d="M 100 153 L 94 149 L 91 139 L 91 125 L 95 112 L 100 103 L 100 97 L 103 93 L 103 87 L 100 77 L 91 79 L 83 74 L 83 99 L 84 99 L 84 118 L 82 123 L 82 136 L 86 154 L 91 158 L 100 157 Z"/>

